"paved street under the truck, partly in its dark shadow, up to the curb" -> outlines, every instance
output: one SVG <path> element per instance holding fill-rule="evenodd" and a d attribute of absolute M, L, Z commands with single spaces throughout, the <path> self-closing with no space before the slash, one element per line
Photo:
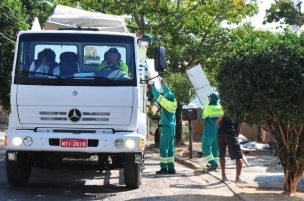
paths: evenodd
<path fill-rule="evenodd" d="M 124 186 L 123 171 L 33 169 L 26 187 L 10 187 L 5 150 L 0 146 L 0 200 L 240 200 L 209 174 L 195 174 L 176 164 L 178 174 L 156 175 L 158 154 L 147 153 L 144 181 L 139 189 Z"/>

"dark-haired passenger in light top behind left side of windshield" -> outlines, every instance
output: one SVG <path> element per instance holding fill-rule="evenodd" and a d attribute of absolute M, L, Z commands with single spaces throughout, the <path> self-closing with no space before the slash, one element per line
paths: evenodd
<path fill-rule="evenodd" d="M 29 71 L 59 75 L 59 65 L 55 62 L 56 54 L 52 49 L 45 48 L 29 67 Z"/>

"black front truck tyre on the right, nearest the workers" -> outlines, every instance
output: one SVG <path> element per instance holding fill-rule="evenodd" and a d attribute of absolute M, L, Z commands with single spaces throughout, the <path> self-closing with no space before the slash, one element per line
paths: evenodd
<path fill-rule="evenodd" d="M 142 182 L 142 165 L 135 163 L 135 154 L 127 154 L 124 163 L 124 178 L 127 188 L 139 188 Z"/>

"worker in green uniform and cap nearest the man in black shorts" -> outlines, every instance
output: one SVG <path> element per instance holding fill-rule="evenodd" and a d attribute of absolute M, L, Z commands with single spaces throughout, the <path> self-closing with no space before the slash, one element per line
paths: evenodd
<path fill-rule="evenodd" d="M 205 120 L 202 136 L 202 152 L 208 161 L 208 170 L 216 170 L 218 167 L 217 125 L 216 120 L 223 114 L 223 109 L 218 104 L 218 96 L 211 93 L 209 104 L 200 115 L 200 120 Z"/>

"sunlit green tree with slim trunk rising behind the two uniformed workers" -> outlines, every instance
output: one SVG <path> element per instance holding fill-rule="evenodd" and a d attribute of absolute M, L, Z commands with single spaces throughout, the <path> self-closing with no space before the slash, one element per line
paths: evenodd
<path fill-rule="evenodd" d="M 243 0 L 136 0 L 132 4 L 128 0 L 58 0 L 57 3 L 89 11 L 125 15 L 131 32 L 141 35 L 150 33 L 159 39 L 154 44 L 166 47 L 168 61 L 168 70 L 162 76 L 176 80 L 168 82 L 168 85 L 179 100 L 177 136 L 181 134 L 181 104 L 188 104 L 194 95 L 191 83 L 185 79 L 185 70 L 201 63 L 207 74 L 214 74 L 216 56 L 220 54 L 221 45 L 227 42 L 227 31 L 221 23 L 239 23 L 246 16 L 257 12 L 255 1 Z M 183 85 L 178 83 L 181 78 Z"/>

